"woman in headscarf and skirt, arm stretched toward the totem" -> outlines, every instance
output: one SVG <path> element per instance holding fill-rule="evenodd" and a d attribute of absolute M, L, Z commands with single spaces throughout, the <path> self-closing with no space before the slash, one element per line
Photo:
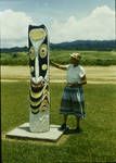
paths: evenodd
<path fill-rule="evenodd" d="M 80 53 L 70 54 L 70 64 L 60 65 L 52 64 L 55 67 L 67 70 L 66 86 L 64 88 L 60 112 L 64 115 L 63 124 L 60 130 L 68 131 L 67 116 L 73 114 L 76 116 L 77 125 L 75 130 L 80 131 L 80 120 L 85 117 L 85 97 L 82 85 L 87 84 L 85 68 L 79 64 Z"/>

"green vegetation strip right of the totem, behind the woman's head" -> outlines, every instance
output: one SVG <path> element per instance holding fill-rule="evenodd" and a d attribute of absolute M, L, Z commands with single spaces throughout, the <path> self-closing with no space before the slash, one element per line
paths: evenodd
<path fill-rule="evenodd" d="M 62 64 L 68 64 L 69 54 L 77 50 L 53 50 L 51 60 Z M 81 53 L 83 65 L 116 65 L 116 51 L 78 51 Z"/>

